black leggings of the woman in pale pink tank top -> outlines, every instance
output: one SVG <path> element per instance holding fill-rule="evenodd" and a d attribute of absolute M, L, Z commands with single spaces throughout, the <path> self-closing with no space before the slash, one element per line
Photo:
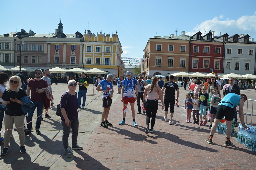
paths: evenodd
<path fill-rule="evenodd" d="M 150 118 L 152 118 L 151 121 L 151 129 L 154 128 L 154 125 L 156 123 L 156 113 L 158 110 L 158 100 L 147 100 L 146 104 L 146 111 L 147 111 L 147 118 L 146 118 L 146 124 L 149 126 Z"/>

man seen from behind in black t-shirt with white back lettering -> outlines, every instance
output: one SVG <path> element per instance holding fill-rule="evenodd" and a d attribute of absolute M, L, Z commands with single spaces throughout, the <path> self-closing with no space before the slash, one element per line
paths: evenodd
<path fill-rule="evenodd" d="M 173 124 L 172 120 L 173 120 L 173 114 L 174 114 L 175 100 L 179 99 L 179 86 L 178 86 L 178 84 L 173 82 L 174 76 L 172 76 L 172 75 L 169 76 L 169 80 L 170 81 L 167 81 L 166 83 L 164 83 L 164 87 L 162 88 L 162 93 L 164 92 L 164 89 L 166 89 L 165 90 L 165 95 L 164 95 L 164 106 L 165 106 L 164 120 L 166 122 L 168 122 L 167 115 L 168 115 L 168 108 L 169 108 L 169 104 L 170 104 L 171 119 L 170 119 L 169 124 L 172 125 Z M 177 91 L 177 99 L 175 99 L 175 91 Z"/>

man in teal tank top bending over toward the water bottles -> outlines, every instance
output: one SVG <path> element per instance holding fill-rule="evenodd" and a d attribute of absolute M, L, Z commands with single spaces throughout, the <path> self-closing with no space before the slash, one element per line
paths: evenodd
<path fill-rule="evenodd" d="M 225 116 L 227 122 L 227 139 L 225 141 L 225 145 L 231 145 L 232 142 L 230 141 L 231 131 L 232 131 L 232 122 L 233 122 L 233 114 L 234 114 L 234 107 L 239 105 L 239 118 L 241 121 L 244 130 L 248 127 L 244 124 L 244 115 L 243 115 L 243 106 L 244 102 L 247 100 L 247 96 L 245 94 L 235 94 L 229 93 L 227 94 L 219 103 L 218 110 L 215 116 L 214 124 L 211 128 L 210 137 L 207 138 L 205 141 L 209 144 L 212 143 L 213 135 L 216 132 L 217 126 L 219 125 L 220 121 L 222 120 L 223 116 Z M 249 128 L 248 128 L 249 129 Z"/>

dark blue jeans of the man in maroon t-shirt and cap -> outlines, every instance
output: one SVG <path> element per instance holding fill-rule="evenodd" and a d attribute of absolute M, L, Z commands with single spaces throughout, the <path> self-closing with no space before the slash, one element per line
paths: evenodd
<path fill-rule="evenodd" d="M 37 117 L 42 115 L 44 102 L 33 102 L 33 103 L 34 103 L 34 107 L 32 107 L 28 112 L 27 123 L 32 121 L 32 118 L 33 118 L 33 115 L 34 115 L 34 112 L 35 112 L 36 108 L 37 108 L 37 111 L 36 111 Z M 40 129 L 41 121 L 42 121 L 41 117 L 36 119 L 36 130 Z M 31 129 L 32 129 L 32 122 L 27 125 L 27 130 L 31 131 Z"/>

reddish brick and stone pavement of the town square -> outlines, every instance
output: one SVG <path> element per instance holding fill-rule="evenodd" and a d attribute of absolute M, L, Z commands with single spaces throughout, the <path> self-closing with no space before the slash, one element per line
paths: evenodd
<path fill-rule="evenodd" d="M 138 126 L 133 126 L 130 105 L 126 125 L 119 125 L 123 104 L 121 95 L 116 94 L 115 85 L 108 119 L 113 126 L 101 128 L 102 93 L 90 95 L 93 94 L 92 87 L 89 86 L 87 93 L 86 109 L 79 109 L 78 144 L 83 146 L 83 150 L 74 150 L 71 155 L 63 151 L 61 120 L 53 108 L 49 111 L 52 118 L 42 121 L 42 134 L 39 136 L 32 132 L 26 136 L 27 153 L 19 152 L 19 137 L 13 131 L 8 154 L 0 156 L 0 169 L 256 169 L 256 153 L 249 152 L 248 148 L 236 142 L 235 137 L 231 137 L 233 144 L 230 146 L 224 145 L 226 137 L 218 132 L 214 135 L 213 145 L 205 142 L 210 134 L 209 123 L 206 126 L 185 123 L 186 111 L 181 102 L 179 108 L 175 107 L 174 125 L 163 120 L 164 111 L 159 103 L 155 132 L 146 135 L 146 115 L 136 114 Z M 68 90 L 67 84 L 53 84 L 52 88 L 57 105 L 61 95 Z M 186 92 L 180 88 L 180 100 L 185 101 Z M 247 94 L 248 99 L 255 99 L 254 90 L 241 92 Z M 252 110 L 249 104 L 248 123 L 251 122 Z M 253 126 L 255 124 L 254 113 Z M 237 132 L 238 129 L 235 130 Z M 71 146 L 71 135 L 69 142 Z M 0 146 L 3 150 L 3 143 Z"/>

